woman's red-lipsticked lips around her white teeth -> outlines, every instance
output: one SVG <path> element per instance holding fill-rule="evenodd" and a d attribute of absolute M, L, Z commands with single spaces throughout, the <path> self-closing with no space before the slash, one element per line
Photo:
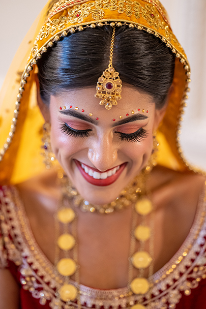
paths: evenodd
<path fill-rule="evenodd" d="M 81 163 L 78 160 L 74 159 L 74 162 L 76 163 L 81 175 L 84 177 L 84 179 L 86 181 L 88 181 L 91 184 L 94 184 L 94 186 L 101 186 L 101 187 L 109 186 L 109 184 L 112 184 L 114 181 L 116 181 L 116 179 L 119 178 L 120 174 L 123 172 L 124 168 L 127 165 L 127 162 L 121 164 L 119 170 L 116 171 L 116 173 L 114 175 L 107 177 L 106 179 L 95 179 L 92 176 L 90 176 L 89 174 L 85 173 L 84 169 L 81 167 Z M 85 164 L 83 164 L 83 165 L 85 165 Z M 86 166 L 91 168 L 88 165 L 86 165 Z M 91 168 L 91 169 L 94 170 L 94 171 L 100 172 L 97 169 L 93 169 L 93 168 Z M 108 169 L 107 171 L 109 171 L 109 170 L 111 170 L 111 169 Z"/>

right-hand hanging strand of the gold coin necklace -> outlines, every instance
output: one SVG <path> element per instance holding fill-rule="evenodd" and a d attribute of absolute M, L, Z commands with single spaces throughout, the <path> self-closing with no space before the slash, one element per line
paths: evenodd
<path fill-rule="evenodd" d="M 146 176 L 145 172 L 139 175 L 138 200 L 133 205 L 128 288 L 133 294 L 139 296 L 139 300 L 138 303 L 129 301 L 131 309 L 146 308 L 141 302 L 143 295 L 152 287 L 152 283 L 146 279 L 144 272 L 148 269 L 148 278 L 150 278 L 154 271 L 154 209 L 149 198 L 151 194 L 143 189 Z M 137 219 L 140 221 L 138 225 Z M 149 241 L 149 252 L 145 250 L 146 241 Z M 138 250 L 136 250 L 136 244 L 138 244 Z M 133 275 L 134 269 L 138 270 L 137 276 Z"/>

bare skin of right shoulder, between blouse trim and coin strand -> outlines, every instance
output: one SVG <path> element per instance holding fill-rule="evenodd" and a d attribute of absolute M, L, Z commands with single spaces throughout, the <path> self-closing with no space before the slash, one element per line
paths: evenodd
<path fill-rule="evenodd" d="M 155 271 L 179 250 L 193 226 L 203 200 L 205 177 L 157 166 L 149 188 L 155 206 Z"/>

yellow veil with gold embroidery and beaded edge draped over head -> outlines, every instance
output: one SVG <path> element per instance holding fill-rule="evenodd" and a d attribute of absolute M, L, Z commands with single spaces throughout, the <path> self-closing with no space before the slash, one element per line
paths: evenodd
<path fill-rule="evenodd" d="M 181 121 L 190 82 L 185 52 L 172 33 L 158 0 L 49 1 L 20 45 L 0 93 L 0 183 L 15 184 L 44 169 L 40 156 L 43 117 L 36 103 L 37 59 L 68 33 L 127 24 L 159 37 L 175 54 L 173 86 L 159 126 L 158 164 L 174 170 L 194 170 L 180 146 Z M 198 171 L 199 172 L 199 171 Z"/>

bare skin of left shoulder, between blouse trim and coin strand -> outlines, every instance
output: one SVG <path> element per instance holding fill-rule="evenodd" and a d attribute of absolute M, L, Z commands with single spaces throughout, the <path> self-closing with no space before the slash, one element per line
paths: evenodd
<path fill-rule="evenodd" d="M 56 176 L 55 170 L 46 171 L 16 186 L 35 240 L 51 262 L 55 239 L 53 215 L 61 194 Z"/>

